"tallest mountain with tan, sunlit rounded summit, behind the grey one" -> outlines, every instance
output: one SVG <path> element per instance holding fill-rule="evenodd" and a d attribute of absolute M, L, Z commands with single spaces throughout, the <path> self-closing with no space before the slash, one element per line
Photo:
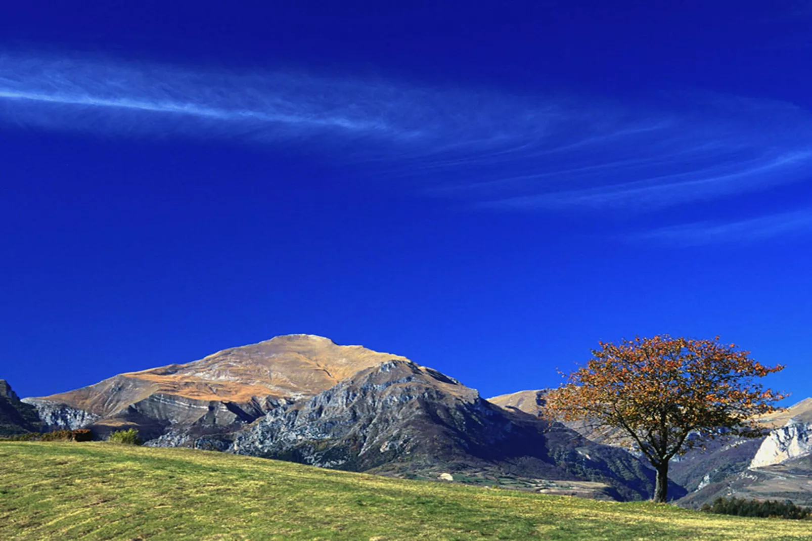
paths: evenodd
<path fill-rule="evenodd" d="M 393 358 L 405 357 L 286 335 L 26 401 L 54 428 L 89 426 L 103 436 L 134 427 L 147 439 L 168 430 L 204 435 L 235 430 Z"/>

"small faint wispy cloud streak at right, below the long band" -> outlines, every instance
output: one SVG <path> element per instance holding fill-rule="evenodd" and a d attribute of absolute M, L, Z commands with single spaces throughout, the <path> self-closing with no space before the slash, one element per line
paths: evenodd
<path fill-rule="evenodd" d="M 749 244 L 760 240 L 787 239 L 812 233 L 812 208 L 772 214 L 730 223 L 689 223 L 637 234 L 633 240 L 668 245 L 700 246 Z"/>

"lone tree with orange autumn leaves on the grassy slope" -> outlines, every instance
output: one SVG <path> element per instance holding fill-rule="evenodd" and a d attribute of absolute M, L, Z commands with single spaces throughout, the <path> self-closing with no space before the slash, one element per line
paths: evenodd
<path fill-rule="evenodd" d="M 787 395 L 754 379 L 763 366 L 736 344 L 658 335 L 604 344 L 546 396 L 547 415 L 628 435 L 657 470 L 654 501 L 665 502 L 668 462 L 719 435 L 758 437 L 754 416 Z"/>

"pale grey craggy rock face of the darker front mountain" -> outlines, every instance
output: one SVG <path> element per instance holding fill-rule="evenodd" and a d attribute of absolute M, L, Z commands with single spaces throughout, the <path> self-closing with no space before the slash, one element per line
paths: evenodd
<path fill-rule="evenodd" d="M 459 387 L 446 395 L 434 384 Z M 448 402 L 456 408 L 451 411 Z M 289 457 L 311 465 L 368 469 L 414 450 L 418 426 L 430 422 L 423 405 L 447 428 L 464 428 L 469 409 L 481 408 L 476 392 L 439 379 L 409 361 L 390 361 L 361 372 L 309 400 L 267 413 L 235 438 L 231 452 Z"/>

